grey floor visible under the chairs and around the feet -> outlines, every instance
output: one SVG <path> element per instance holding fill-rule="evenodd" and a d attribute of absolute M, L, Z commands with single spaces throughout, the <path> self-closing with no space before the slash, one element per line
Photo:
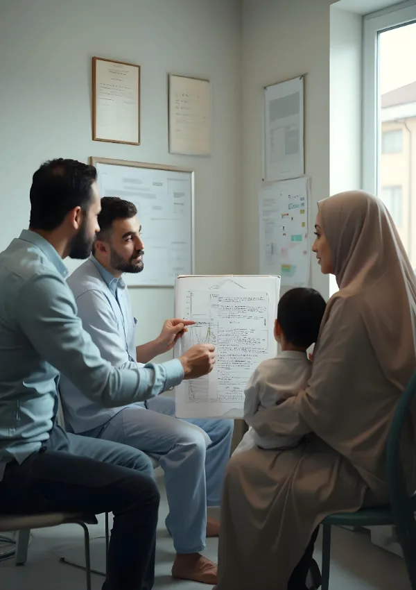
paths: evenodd
<path fill-rule="evenodd" d="M 178 582 L 170 575 L 173 545 L 164 528 L 167 512 L 163 498 L 157 539 L 155 589 L 203 590 L 209 588 L 193 582 Z M 90 528 L 92 566 L 104 566 L 104 525 Z M 205 554 L 216 559 L 217 539 L 208 539 Z M 83 556 L 83 532 L 74 525 L 35 530 L 29 547 L 28 562 L 15 567 L 12 560 L 0 564 L 1 590 L 85 590 L 83 570 L 63 564 L 65 555 L 78 561 Z M 315 558 L 320 562 L 320 542 Z M 101 589 L 103 576 L 93 576 L 93 590 Z M 331 590 L 409 590 L 403 560 L 370 542 L 367 534 L 333 530 Z M 238 590 L 238 589 L 236 589 Z"/>

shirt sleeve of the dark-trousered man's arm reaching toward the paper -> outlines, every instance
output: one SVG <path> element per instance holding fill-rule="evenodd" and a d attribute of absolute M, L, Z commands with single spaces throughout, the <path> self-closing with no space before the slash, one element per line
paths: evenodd
<path fill-rule="evenodd" d="M 71 289 L 53 273 L 34 276 L 19 294 L 19 324 L 40 357 L 63 373 L 85 396 L 117 407 L 156 396 L 183 379 L 179 361 L 128 369 L 101 357 L 77 316 Z M 180 365 L 181 369 L 179 369 Z"/>

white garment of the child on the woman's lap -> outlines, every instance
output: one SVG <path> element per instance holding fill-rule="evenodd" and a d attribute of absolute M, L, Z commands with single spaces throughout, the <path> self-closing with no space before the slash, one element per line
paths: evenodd
<path fill-rule="evenodd" d="M 250 426 L 252 416 L 257 412 L 282 403 L 305 389 L 311 371 L 312 363 L 306 353 L 296 351 L 283 351 L 276 358 L 259 364 L 245 388 L 244 419 L 248 425 Z M 293 448 L 300 441 L 301 437 L 260 437 L 250 426 L 233 455 L 254 446 L 269 449 Z"/>

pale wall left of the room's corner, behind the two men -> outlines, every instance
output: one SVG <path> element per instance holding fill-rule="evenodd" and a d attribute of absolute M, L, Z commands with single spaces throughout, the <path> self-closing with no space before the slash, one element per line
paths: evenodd
<path fill-rule="evenodd" d="M 0 250 L 28 226 L 31 175 L 89 156 L 196 171 L 196 271 L 238 273 L 239 0 L 13 0 L 0 15 Z M 91 58 L 141 65 L 141 146 L 92 141 Z M 168 153 L 167 74 L 209 78 L 211 158 Z M 139 342 L 173 314 L 172 289 L 132 289 Z"/>

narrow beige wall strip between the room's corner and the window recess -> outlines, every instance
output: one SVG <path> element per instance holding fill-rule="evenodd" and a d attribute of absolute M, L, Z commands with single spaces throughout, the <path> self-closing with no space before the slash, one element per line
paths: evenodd
<path fill-rule="evenodd" d="M 257 190 L 263 177 L 263 87 L 306 74 L 305 165 L 311 215 L 329 196 L 330 0 L 243 0 L 243 242 L 245 273 L 259 270 Z M 311 285 L 324 296 L 327 277 L 313 256 Z"/>

